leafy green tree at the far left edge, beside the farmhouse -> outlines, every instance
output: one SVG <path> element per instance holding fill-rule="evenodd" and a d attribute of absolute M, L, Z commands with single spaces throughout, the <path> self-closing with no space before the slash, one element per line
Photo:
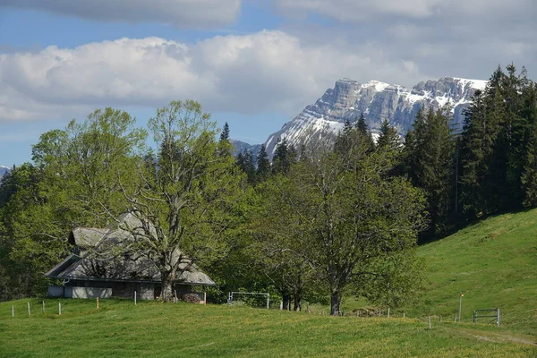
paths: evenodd
<path fill-rule="evenodd" d="M 0 183 L 0 300 L 44 294 L 43 274 L 67 252 L 62 193 L 52 192 L 44 173 L 28 163 Z"/>

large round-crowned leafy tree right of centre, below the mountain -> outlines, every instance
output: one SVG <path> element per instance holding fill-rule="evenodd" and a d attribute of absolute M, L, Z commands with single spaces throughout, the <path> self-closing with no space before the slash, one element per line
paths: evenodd
<path fill-rule="evenodd" d="M 411 254 L 407 250 L 424 223 L 420 192 L 402 178 L 383 175 L 392 162 L 383 152 L 369 153 L 357 131 L 356 138 L 345 153 L 299 161 L 288 172 L 292 185 L 285 195 L 272 196 L 281 212 L 293 213 L 286 215 L 293 223 L 273 230 L 284 237 L 289 227 L 300 227 L 300 244 L 288 251 L 298 251 L 315 268 L 333 315 L 340 312 L 345 287 L 393 273 L 376 270 L 379 262 Z M 273 215 L 278 222 L 278 213 Z"/>

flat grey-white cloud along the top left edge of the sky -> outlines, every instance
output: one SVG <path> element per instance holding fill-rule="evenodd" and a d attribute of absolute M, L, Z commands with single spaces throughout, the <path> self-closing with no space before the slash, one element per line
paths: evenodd
<path fill-rule="evenodd" d="M 241 0 L 3 0 L 0 7 L 47 11 L 98 21 L 160 22 L 207 28 L 233 22 Z"/>

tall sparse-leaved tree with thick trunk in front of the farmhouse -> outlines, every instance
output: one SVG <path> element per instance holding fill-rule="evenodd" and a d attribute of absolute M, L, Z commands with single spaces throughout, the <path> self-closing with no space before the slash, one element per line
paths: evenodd
<path fill-rule="evenodd" d="M 173 299 L 173 285 L 192 264 L 209 264 L 226 250 L 224 232 L 234 223 L 234 198 L 241 175 L 232 156 L 218 155 L 215 123 L 200 104 L 174 101 L 149 119 L 158 143 L 158 166 L 139 164 L 136 187 L 118 184 L 129 211 L 141 224 L 132 249 L 160 271 L 162 299 Z"/>

